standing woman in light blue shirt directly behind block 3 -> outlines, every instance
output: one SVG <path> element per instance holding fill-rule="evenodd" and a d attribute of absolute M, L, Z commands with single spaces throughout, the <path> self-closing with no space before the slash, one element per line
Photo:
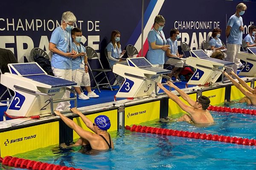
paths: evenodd
<path fill-rule="evenodd" d="M 154 19 L 154 26 L 148 33 L 147 59 L 154 66 L 163 68 L 165 51 L 170 45 L 166 45 L 166 38 L 163 33 L 165 19 L 157 15 Z"/>

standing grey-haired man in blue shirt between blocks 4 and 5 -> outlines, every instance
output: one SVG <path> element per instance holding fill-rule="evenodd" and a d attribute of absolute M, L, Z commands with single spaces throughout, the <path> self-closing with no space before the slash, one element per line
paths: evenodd
<path fill-rule="evenodd" d="M 244 31 L 243 18 L 241 15 L 247 9 L 244 3 L 239 3 L 236 6 L 236 14 L 233 14 L 227 22 L 226 37 L 227 37 L 227 61 L 235 62 L 233 70 L 237 73 L 240 59 L 237 58 L 237 53 L 240 52 L 242 44 L 242 35 Z"/>

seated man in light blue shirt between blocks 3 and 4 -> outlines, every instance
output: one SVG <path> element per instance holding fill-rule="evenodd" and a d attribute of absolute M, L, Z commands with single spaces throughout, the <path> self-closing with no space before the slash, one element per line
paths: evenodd
<path fill-rule="evenodd" d="M 167 76 L 171 78 L 172 76 L 174 76 L 175 82 L 180 82 L 180 80 L 178 79 L 178 75 L 180 74 L 180 71 L 182 71 L 184 61 L 186 61 L 186 59 L 182 58 L 183 55 L 178 53 L 177 40 L 180 38 L 179 30 L 171 29 L 170 36 L 171 37 L 166 40 L 166 44 L 170 46 L 167 48 L 166 51 L 165 64 L 173 65 L 174 68 L 172 69 L 172 73 L 167 74 Z"/>

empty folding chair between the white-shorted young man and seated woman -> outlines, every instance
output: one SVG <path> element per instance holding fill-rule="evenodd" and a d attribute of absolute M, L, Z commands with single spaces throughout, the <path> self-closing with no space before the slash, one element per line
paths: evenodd
<path fill-rule="evenodd" d="M 110 73 L 112 70 L 111 70 L 111 69 L 103 68 L 102 63 L 101 63 L 101 61 L 100 61 L 100 59 L 99 59 L 99 56 L 98 56 L 98 54 L 96 53 L 96 51 L 95 51 L 93 48 L 91 48 L 91 47 L 89 47 L 89 46 L 86 46 L 86 47 L 85 47 L 85 50 L 86 50 L 86 54 L 87 54 L 88 59 L 91 59 L 91 58 L 96 58 L 96 59 L 98 59 L 99 65 L 100 65 L 100 67 L 101 67 L 101 68 L 91 68 L 90 65 L 89 65 L 89 63 L 87 63 L 87 64 L 88 64 L 88 67 L 89 67 L 89 69 L 90 69 L 91 75 L 92 75 L 92 77 L 93 77 L 93 80 L 94 80 L 94 82 L 96 83 L 96 86 L 93 87 L 93 88 L 96 88 L 96 87 L 97 87 L 98 90 L 99 90 L 99 85 L 109 85 L 110 88 L 111 88 L 111 91 L 113 91 L 113 90 L 112 90 L 112 87 L 111 87 L 111 85 L 110 85 L 110 82 L 109 82 L 109 80 L 108 80 L 108 76 L 107 76 L 107 73 Z M 96 72 L 96 73 L 97 73 L 96 76 L 93 75 L 93 72 Z M 96 77 L 98 77 L 98 76 L 101 75 L 102 73 L 104 74 L 104 77 L 103 77 L 99 82 L 97 82 L 97 81 L 96 81 Z M 104 79 L 107 80 L 107 83 L 101 83 Z M 99 92 L 100 92 L 100 90 L 99 90 Z M 100 92 L 100 93 L 101 93 L 101 92 Z"/>

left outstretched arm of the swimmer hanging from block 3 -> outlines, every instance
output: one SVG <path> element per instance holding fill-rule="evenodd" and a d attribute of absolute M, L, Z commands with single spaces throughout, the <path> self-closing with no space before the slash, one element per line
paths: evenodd
<path fill-rule="evenodd" d="M 175 94 L 173 94 L 172 92 L 170 92 L 169 90 L 167 90 L 165 87 L 163 87 L 163 85 L 161 83 L 157 83 L 158 87 L 160 89 L 162 89 L 168 96 L 170 99 L 172 99 L 175 103 L 177 103 L 180 108 L 183 111 L 186 111 L 187 113 L 189 113 L 191 116 L 193 115 L 195 109 L 191 106 L 185 105 L 185 103 L 183 103 L 178 96 L 176 96 Z"/>

